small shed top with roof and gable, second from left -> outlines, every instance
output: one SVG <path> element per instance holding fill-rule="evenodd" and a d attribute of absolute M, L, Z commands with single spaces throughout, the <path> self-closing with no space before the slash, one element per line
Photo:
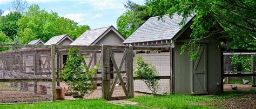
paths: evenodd
<path fill-rule="evenodd" d="M 53 36 L 44 45 L 70 45 L 74 40 L 68 35 Z"/>

